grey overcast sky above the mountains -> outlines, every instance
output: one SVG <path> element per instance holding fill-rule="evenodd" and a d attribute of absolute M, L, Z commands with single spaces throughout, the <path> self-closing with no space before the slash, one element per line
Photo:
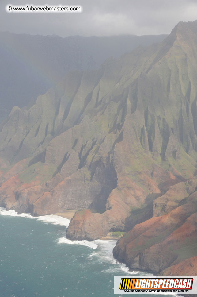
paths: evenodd
<path fill-rule="evenodd" d="M 0 0 L 0 31 L 40 35 L 169 34 L 197 19 L 196 0 Z M 7 13 L 7 4 L 81 5 L 82 13 Z"/>

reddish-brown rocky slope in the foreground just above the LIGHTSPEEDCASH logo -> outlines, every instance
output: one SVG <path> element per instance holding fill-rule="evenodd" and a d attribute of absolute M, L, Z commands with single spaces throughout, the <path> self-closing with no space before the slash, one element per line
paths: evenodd
<path fill-rule="evenodd" d="M 180 187 L 188 190 L 186 183 Z M 114 256 L 132 269 L 163 275 L 195 274 L 197 191 L 187 197 L 184 194 L 176 208 L 127 232 L 116 244 Z"/>

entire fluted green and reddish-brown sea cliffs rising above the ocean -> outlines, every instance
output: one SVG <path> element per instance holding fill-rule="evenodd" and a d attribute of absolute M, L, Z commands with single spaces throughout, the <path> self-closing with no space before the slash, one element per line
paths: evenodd
<path fill-rule="evenodd" d="M 0 205 L 79 209 L 71 239 L 131 230 L 114 249 L 129 267 L 161 272 L 195 257 L 196 33 L 180 22 L 160 44 L 73 71 L 28 110 L 14 107 L 0 132 Z"/>

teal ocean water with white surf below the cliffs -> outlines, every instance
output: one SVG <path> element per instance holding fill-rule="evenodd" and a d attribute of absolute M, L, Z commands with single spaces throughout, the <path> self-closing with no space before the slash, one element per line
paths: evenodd
<path fill-rule="evenodd" d="M 143 274 L 113 258 L 114 240 L 66 239 L 67 219 L 0 214 L 1 297 L 124 296 L 114 295 L 114 275 Z"/>

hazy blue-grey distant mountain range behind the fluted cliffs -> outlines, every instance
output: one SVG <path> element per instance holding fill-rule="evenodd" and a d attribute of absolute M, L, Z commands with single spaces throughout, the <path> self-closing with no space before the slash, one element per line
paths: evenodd
<path fill-rule="evenodd" d="M 31 106 L 70 70 L 99 68 L 139 45 L 160 42 L 166 35 L 80 37 L 0 32 L 0 121 L 13 106 Z"/>

